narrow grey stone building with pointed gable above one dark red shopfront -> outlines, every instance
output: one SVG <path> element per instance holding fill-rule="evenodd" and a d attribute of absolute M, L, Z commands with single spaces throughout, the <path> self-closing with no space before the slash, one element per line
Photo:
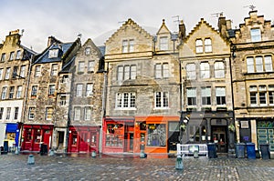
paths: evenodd
<path fill-rule="evenodd" d="M 103 52 L 88 39 L 79 48 L 70 70 L 68 152 L 100 151 L 103 67 Z"/>

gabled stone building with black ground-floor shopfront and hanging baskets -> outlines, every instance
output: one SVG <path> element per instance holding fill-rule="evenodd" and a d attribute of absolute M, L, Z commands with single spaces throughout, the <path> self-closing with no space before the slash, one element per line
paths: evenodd
<path fill-rule="evenodd" d="M 203 18 L 178 47 L 182 70 L 183 144 L 215 142 L 217 152 L 234 146 L 230 44 Z"/>

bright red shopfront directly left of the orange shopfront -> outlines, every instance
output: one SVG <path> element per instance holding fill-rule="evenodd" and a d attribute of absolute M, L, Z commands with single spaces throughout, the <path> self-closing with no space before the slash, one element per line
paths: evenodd
<path fill-rule="evenodd" d="M 133 152 L 134 119 L 111 118 L 103 120 L 103 153 Z"/>

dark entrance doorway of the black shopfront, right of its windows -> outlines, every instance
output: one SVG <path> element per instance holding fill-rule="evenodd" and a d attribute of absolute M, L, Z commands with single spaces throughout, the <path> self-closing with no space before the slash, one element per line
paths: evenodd
<path fill-rule="evenodd" d="M 212 137 L 217 153 L 227 153 L 227 126 L 212 126 Z"/>

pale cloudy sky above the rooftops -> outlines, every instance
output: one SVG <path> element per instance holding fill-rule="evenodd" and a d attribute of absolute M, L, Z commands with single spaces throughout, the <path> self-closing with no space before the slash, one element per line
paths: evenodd
<path fill-rule="evenodd" d="M 103 45 L 128 18 L 151 34 L 162 19 L 172 32 L 177 31 L 179 18 L 189 33 L 202 17 L 216 27 L 213 14 L 220 12 L 235 27 L 244 22 L 250 5 L 256 6 L 258 15 L 274 20 L 273 0 L 0 0 L 0 40 L 11 30 L 24 29 L 22 44 L 37 53 L 46 48 L 50 35 L 72 42 L 81 34 L 82 44 L 91 38 Z"/>

